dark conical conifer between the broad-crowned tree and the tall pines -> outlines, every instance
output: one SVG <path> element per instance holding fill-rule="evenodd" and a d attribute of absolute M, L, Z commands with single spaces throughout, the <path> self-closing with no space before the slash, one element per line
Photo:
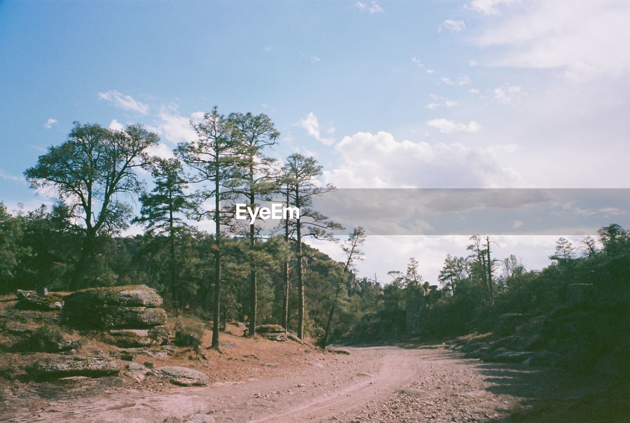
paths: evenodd
<path fill-rule="evenodd" d="M 192 196 L 185 193 L 188 181 L 183 175 L 183 167 L 178 159 L 156 157 L 151 163 L 151 174 L 155 186 L 150 193 L 140 196 L 140 217 L 134 222 L 146 225 L 149 235 L 168 237 L 170 288 L 173 306 L 180 305 L 177 295 L 178 266 L 175 243 L 178 235 L 188 228 L 184 222 L 185 213 L 194 208 Z"/>

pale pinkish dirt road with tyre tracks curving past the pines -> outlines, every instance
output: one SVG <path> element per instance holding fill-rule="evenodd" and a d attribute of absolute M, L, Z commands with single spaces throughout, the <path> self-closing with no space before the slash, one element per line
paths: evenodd
<path fill-rule="evenodd" d="M 547 395 L 554 375 L 490 365 L 445 349 L 353 348 L 305 358 L 299 371 L 147 392 L 129 388 L 11 407 L 9 421 L 487 421 Z M 553 372 L 552 372 L 553 373 Z M 558 378 L 556 378 L 558 379 Z M 560 381 L 558 382 L 560 383 Z M 562 378 L 561 383 L 571 384 Z M 553 389 L 553 388 L 551 388 Z"/>

